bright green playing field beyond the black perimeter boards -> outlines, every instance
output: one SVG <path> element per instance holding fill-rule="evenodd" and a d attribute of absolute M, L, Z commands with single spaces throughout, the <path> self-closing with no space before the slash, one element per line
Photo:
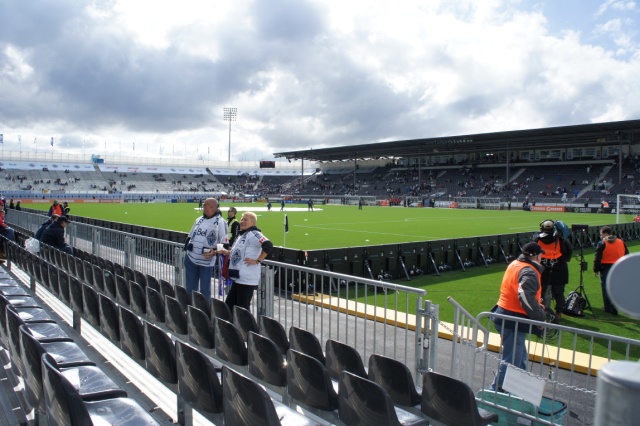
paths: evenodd
<path fill-rule="evenodd" d="M 613 214 L 538 213 L 520 210 L 465 210 L 404 207 L 363 207 L 316 205 L 307 211 L 306 204 L 287 204 L 284 211 L 274 205 L 267 211 L 264 203 L 222 203 L 226 210 L 258 215 L 258 227 L 276 246 L 300 250 L 356 247 L 401 242 L 440 240 L 480 235 L 534 232 L 545 219 L 567 224 L 605 225 L 615 223 Z M 46 205 L 25 207 L 48 209 Z M 73 204 L 71 215 L 93 217 L 114 222 L 132 223 L 153 228 L 189 232 L 200 214 L 195 203 Z M 289 233 L 284 234 L 284 215 L 289 219 Z M 631 218 L 628 219 L 631 221 Z"/>

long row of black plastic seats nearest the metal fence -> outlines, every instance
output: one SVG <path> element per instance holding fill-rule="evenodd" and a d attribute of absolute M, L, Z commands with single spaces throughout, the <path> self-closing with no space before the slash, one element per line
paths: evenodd
<path fill-rule="evenodd" d="M 411 375 L 406 366 L 397 361 L 372 355 L 369 373 L 366 373 L 359 354 L 347 345 L 327 341 L 325 356 L 317 338 L 309 332 L 291 327 L 287 339 L 277 321 L 268 317 L 260 317 L 256 321 L 249 311 L 238 307 L 231 315 L 224 303 L 218 299 L 207 303 L 198 292 L 193 293 L 193 300 L 185 300 L 191 302 L 186 306 L 169 294 L 165 294 L 163 300 L 161 288 L 148 277 L 144 304 L 139 301 L 132 303 L 136 297 L 136 290 L 132 289 L 136 286 L 142 288 L 142 285 L 135 280 L 129 281 L 127 307 L 123 294 L 118 296 L 117 285 L 115 294 L 107 293 L 110 286 L 106 284 L 109 278 L 105 277 L 110 276 L 110 272 L 103 271 L 104 287 L 101 287 L 96 284 L 101 281 L 100 278 L 96 280 L 99 267 L 94 268 L 85 260 L 83 267 L 76 267 L 76 274 L 72 275 L 71 271 L 58 269 L 47 261 L 55 262 L 57 259 L 52 250 L 44 248 L 44 257 L 38 258 L 24 250 L 14 249 L 10 250 L 10 259 L 17 261 L 30 276 L 59 295 L 72 308 L 74 316 L 77 314 L 88 321 L 119 345 L 124 354 L 176 392 L 178 413 L 182 413 L 179 416 L 186 416 L 186 420 L 179 417 L 183 424 L 191 418 L 192 408 L 204 411 L 212 421 L 217 421 L 220 416 L 226 422 L 247 421 L 245 417 L 251 410 L 246 404 L 253 400 L 266 401 L 263 404 L 265 411 L 254 419 L 256 423 L 246 424 L 272 424 L 265 423 L 265 419 L 275 421 L 283 418 L 283 413 L 292 424 L 312 423 L 309 419 L 305 423 L 301 423 L 300 418 L 294 421 L 298 415 L 277 398 L 269 397 L 260 387 L 250 385 L 255 385 L 255 382 L 270 386 L 280 395 L 280 400 L 307 410 L 310 418 L 318 417 L 331 423 L 339 420 L 345 424 L 363 424 L 364 420 L 364 424 L 427 424 L 425 413 L 436 419 L 448 415 L 442 407 L 435 411 L 428 408 L 431 402 L 442 405 L 440 396 L 445 396 L 442 391 L 424 393 L 416 399 Z M 67 261 L 67 265 L 72 263 L 75 264 Z M 92 266 L 91 273 L 85 265 Z M 78 270 L 85 271 L 82 281 Z M 68 289 L 65 289 L 67 284 Z M 176 289 L 173 290 L 175 293 Z M 163 301 L 164 311 L 159 309 Z M 76 323 L 79 321 L 74 320 Z M 351 365 L 356 366 L 353 372 L 344 372 L 350 371 Z M 224 367 L 222 382 L 218 374 L 202 374 L 203 371 L 215 372 L 216 368 L 219 372 L 221 366 Z M 405 390 L 414 389 L 409 400 L 398 390 L 398 379 L 389 380 L 391 376 L 387 371 L 404 372 L 398 377 L 404 377 Z M 240 384 L 242 380 L 249 380 L 249 383 Z M 429 374 L 425 376 L 424 385 L 432 386 L 438 380 L 446 379 Z M 238 394 L 250 388 L 262 396 Z M 374 400 L 376 403 L 372 404 Z M 473 394 L 471 400 L 474 405 L 470 414 L 477 417 Z M 454 404 L 453 412 L 459 416 L 459 403 Z M 417 405 L 421 405 L 422 411 Z"/>

